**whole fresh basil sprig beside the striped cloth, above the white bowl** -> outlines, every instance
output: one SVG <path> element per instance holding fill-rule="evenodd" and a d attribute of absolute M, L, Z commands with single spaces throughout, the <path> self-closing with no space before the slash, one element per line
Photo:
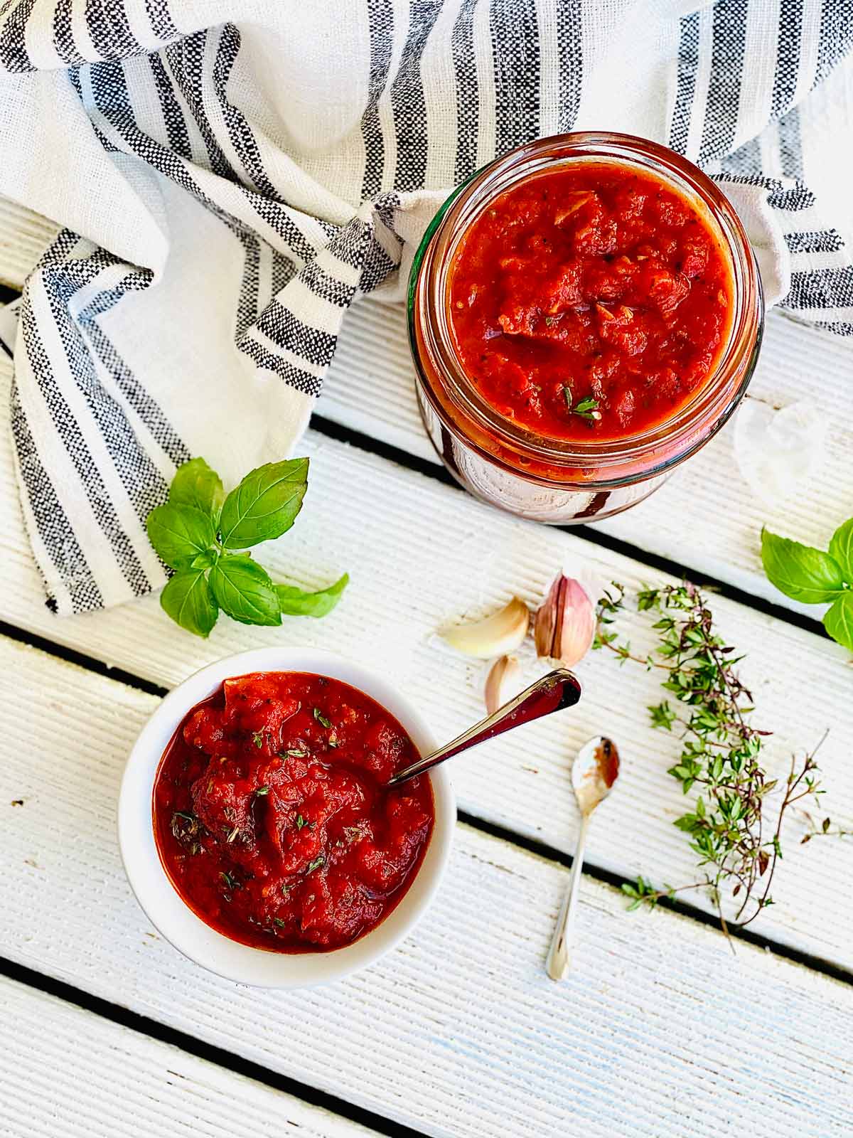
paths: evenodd
<path fill-rule="evenodd" d="M 307 459 L 258 467 L 229 495 L 204 459 L 184 462 L 172 480 L 168 502 L 155 506 L 147 522 L 151 545 L 175 570 L 160 594 L 165 612 L 197 636 L 210 634 L 220 610 L 243 625 L 280 625 L 282 613 L 331 612 L 347 587 L 347 574 L 328 588 L 306 593 L 274 584 L 243 552 L 290 529 L 307 485 Z"/>

